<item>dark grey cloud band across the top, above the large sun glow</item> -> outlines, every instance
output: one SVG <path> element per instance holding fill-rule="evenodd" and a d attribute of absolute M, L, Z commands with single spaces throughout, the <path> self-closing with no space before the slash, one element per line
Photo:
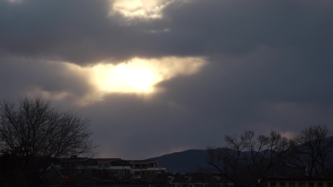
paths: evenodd
<path fill-rule="evenodd" d="M 106 0 L 2 0 L 0 49 L 78 64 L 133 56 L 238 55 L 259 46 L 320 52 L 326 59 L 333 39 L 330 6 L 330 1 L 180 0 L 165 8 L 162 19 L 126 24 L 119 14 L 108 17 Z M 169 32 L 148 32 L 164 29 Z"/>

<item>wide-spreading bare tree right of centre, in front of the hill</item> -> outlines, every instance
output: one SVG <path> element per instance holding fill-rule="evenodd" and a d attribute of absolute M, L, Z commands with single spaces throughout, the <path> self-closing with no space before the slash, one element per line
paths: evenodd
<path fill-rule="evenodd" d="M 226 148 L 207 147 L 208 164 L 219 170 L 236 187 L 249 187 L 259 178 L 272 174 L 290 155 L 290 141 L 276 131 L 255 137 L 245 131 L 240 136 L 225 136 Z"/>

